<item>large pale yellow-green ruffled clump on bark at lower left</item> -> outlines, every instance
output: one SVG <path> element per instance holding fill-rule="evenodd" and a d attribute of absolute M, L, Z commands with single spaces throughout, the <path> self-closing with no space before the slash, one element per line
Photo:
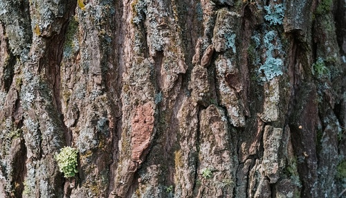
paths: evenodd
<path fill-rule="evenodd" d="M 78 150 L 73 147 L 64 147 L 60 150 L 60 154 L 55 155 L 57 165 L 60 172 L 64 173 L 64 177 L 74 177 L 77 170 Z"/>

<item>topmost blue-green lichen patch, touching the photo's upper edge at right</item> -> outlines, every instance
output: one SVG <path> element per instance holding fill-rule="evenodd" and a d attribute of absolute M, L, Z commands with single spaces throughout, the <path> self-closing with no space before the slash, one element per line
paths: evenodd
<path fill-rule="evenodd" d="M 282 3 L 275 5 L 270 4 L 269 6 L 264 6 L 264 9 L 266 10 L 266 15 L 264 16 L 264 19 L 266 19 L 266 21 L 268 21 L 269 24 L 282 24 L 285 10 L 285 6 Z"/>

